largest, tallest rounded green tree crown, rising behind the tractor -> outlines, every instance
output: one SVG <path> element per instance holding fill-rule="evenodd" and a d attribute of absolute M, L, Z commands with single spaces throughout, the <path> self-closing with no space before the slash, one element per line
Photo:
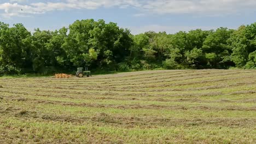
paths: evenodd
<path fill-rule="evenodd" d="M 75 21 L 62 47 L 75 67 L 110 67 L 129 55 L 130 32 L 103 20 Z M 115 66 L 114 66 L 115 67 Z"/>

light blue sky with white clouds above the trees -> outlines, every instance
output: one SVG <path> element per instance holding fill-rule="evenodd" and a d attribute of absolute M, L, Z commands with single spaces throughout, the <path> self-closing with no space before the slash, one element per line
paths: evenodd
<path fill-rule="evenodd" d="M 256 22 L 256 0 L 4 0 L 0 21 L 55 30 L 75 20 L 104 19 L 131 33 L 237 28 Z M 21 10 L 22 9 L 22 10 Z"/>

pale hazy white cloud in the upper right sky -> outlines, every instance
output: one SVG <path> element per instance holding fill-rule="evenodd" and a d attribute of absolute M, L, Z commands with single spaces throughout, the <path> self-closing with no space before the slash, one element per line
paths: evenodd
<path fill-rule="evenodd" d="M 143 9 L 158 14 L 226 15 L 255 6 L 255 0 L 156 0 L 143 5 Z"/>

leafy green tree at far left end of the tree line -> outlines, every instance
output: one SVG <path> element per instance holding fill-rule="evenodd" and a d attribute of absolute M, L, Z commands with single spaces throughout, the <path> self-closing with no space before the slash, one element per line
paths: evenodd
<path fill-rule="evenodd" d="M 7 66 L 27 71 L 32 65 L 31 33 L 22 24 L 0 23 L 0 53 L 2 69 Z M 29 70 L 28 70 L 29 71 Z"/>

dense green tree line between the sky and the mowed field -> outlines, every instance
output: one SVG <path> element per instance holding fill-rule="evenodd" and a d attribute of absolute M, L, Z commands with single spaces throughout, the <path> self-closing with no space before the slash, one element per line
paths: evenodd
<path fill-rule="evenodd" d="M 0 75 L 94 71 L 256 68 L 256 23 L 238 29 L 132 35 L 104 20 L 77 20 L 58 31 L 0 22 Z"/>

